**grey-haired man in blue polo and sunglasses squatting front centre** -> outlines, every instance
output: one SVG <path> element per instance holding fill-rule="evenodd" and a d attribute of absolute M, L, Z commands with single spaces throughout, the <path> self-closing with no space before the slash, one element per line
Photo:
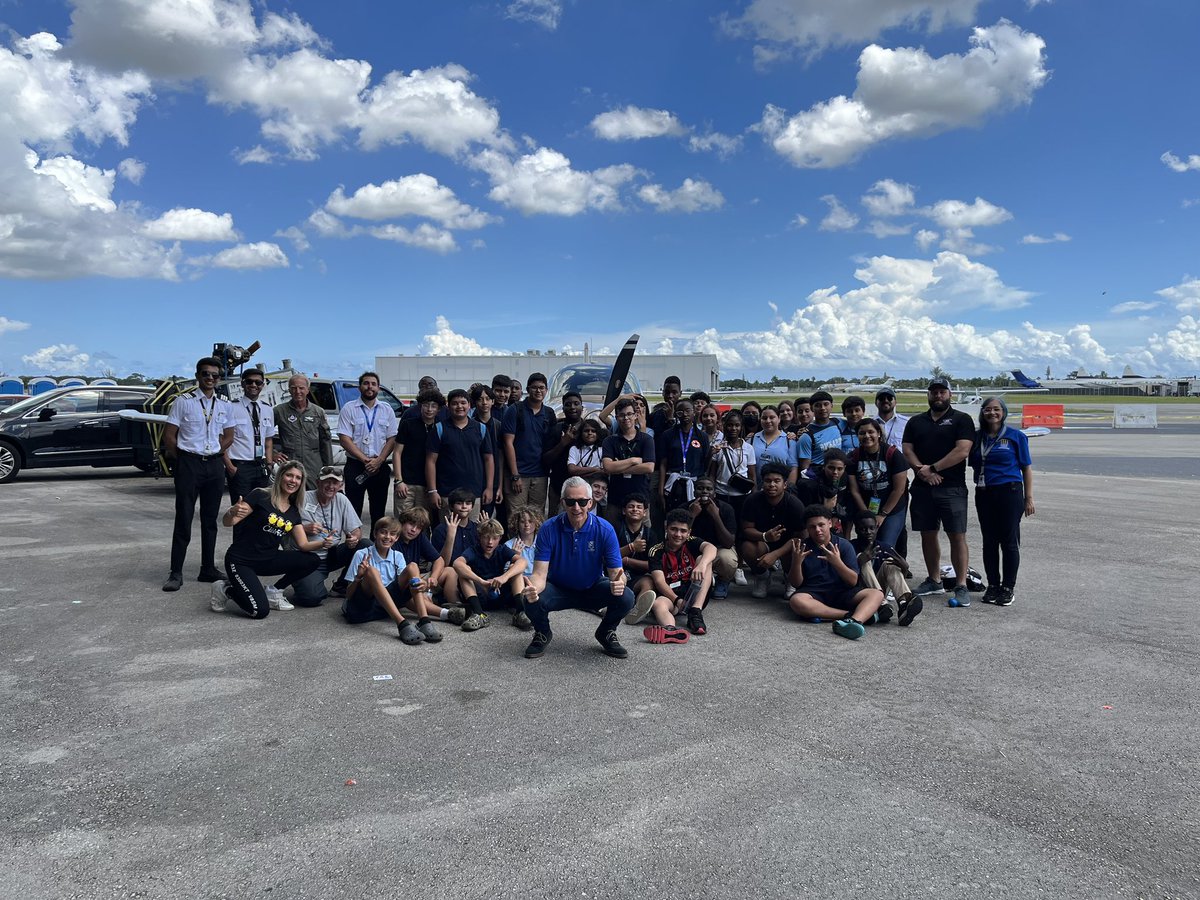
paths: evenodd
<path fill-rule="evenodd" d="M 625 584 L 617 533 L 590 511 L 592 486 L 571 476 L 563 484 L 564 511 L 538 532 L 533 575 L 524 589 L 526 613 L 534 636 L 526 659 L 546 652 L 553 634 L 550 613 L 556 610 L 605 610 L 596 641 L 610 656 L 629 652 L 617 640 L 617 625 L 634 608 L 634 592 Z"/>

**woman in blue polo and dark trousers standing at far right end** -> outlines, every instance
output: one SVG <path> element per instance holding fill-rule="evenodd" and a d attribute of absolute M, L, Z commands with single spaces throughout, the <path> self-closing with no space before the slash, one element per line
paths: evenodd
<path fill-rule="evenodd" d="M 983 601 L 997 606 L 1013 605 L 1021 565 L 1021 516 L 1033 515 L 1030 439 L 1010 428 L 1007 419 L 1004 401 L 988 397 L 979 408 L 979 431 L 967 457 L 974 470 L 976 512 L 988 576 Z"/>

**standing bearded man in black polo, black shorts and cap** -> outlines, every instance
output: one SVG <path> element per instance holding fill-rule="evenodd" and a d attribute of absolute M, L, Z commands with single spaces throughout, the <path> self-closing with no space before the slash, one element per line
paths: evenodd
<path fill-rule="evenodd" d="M 912 482 L 912 529 L 920 532 L 920 548 L 928 576 L 917 594 L 942 593 L 942 547 L 938 527 L 950 540 L 954 593 L 947 606 L 970 606 L 967 593 L 967 455 L 974 443 L 974 422 L 950 408 L 950 384 L 946 378 L 929 383 L 929 412 L 912 416 L 904 430 L 904 455 L 917 478 Z"/>

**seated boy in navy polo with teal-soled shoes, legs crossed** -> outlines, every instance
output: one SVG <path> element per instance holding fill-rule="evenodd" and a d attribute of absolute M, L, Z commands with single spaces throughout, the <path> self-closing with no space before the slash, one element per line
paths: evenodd
<path fill-rule="evenodd" d="M 883 592 L 858 586 L 858 558 L 845 538 L 833 533 L 829 510 L 812 504 L 804 510 L 808 536 L 792 540 L 788 582 L 796 588 L 788 604 L 806 619 L 833 619 L 833 632 L 854 641 L 876 620 Z"/>

